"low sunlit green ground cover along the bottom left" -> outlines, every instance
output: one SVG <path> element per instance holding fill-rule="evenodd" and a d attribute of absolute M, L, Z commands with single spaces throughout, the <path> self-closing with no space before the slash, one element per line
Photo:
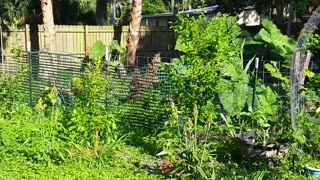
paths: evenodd
<path fill-rule="evenodd" d="M 151 175 L 147 170 L 135 167 L 132 160 L 126 158 L 129 155 L 141 156 L 142 153 L 134 153 L 131 149 L 132 155 L 122 153 L 128 149 L 115 153 L 108 164 L 78 159 L 61 164 L 36 164 L 18 157 L 6 157 L 0 161 L 0 179 L 163 179 L 160 175 Z"/>

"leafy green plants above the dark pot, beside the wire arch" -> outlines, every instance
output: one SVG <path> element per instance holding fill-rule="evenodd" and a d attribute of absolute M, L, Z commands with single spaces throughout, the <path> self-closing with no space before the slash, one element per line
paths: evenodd
<path fill-rule="evenodd" d="M 290 80 L 280 72 L 279 65 L 275 61 L 265 64 L 265 68 L 280 84 L 256 85 L 256 97 L 249 98 L 249 113 L 243 113 L 251 119 L 247 128 L 263 134 L 260 139 L 262 142 L 266 139 L 288 142 L 294 139 L 287 108 L 290 106 L 288 97 Z M 251 106 L 252 98 L 255 98 L 256 102 L 254 107 Z"/>

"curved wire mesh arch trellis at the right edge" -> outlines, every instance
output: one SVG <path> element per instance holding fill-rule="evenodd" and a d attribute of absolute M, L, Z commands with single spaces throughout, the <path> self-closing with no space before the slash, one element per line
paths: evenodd
<path fill-rule="evenodd" d="M 304 83 L 304 70 L 308 68 L 310 54 L 307 52 L 307 43 L 320 24 L 320 6 L 314 11 L 297 40 L 290 69 L 290 104 L 293 129 L 297 128 L 297 117 L 302 112 L 304 99 L 299 94 Z"/>

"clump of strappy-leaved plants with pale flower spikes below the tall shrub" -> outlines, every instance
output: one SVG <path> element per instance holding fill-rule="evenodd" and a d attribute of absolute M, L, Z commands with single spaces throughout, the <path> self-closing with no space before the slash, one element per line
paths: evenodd
<path fill-rule="evenodd" d="M 211 139 L 214 106 L 208 103 L 200 114 L 197 105 L 192 116 L 181 116 L 174 103 L 171 103 L 171 116 L 165 130 L 158 137 L 163 150 L 175 164 L 172 176 L 191 179 L 215 178 L 215 141 Z M 205 124 L 202 126 L 202 124 Z"/>

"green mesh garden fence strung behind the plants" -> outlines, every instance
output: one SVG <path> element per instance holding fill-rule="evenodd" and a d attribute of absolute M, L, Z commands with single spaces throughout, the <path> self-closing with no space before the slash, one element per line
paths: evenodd
<path fill-rule="evenodd" d="M 27 74 L 21 88 L 30 105 L 34 106 L 39 97 L 45 96 L 45 87 L 55 86 L 59 92 L 59 103 L 70 106 L 74 97 L 72 79 L 85 73 L 84 59 L 83 54 L 24 52 L 18 57 L 6 56 L 1 64 L 0 73 L 17 73 L 19 67 L 23 65 L 27 69 Z M 122 120 L 121 122 L 129 127 L 155 128 L 168 118 L 166 111 L 169 107 L 168 99 L 174 92 L 174 87 L 163 70 L 151 71 L 148 66 L 151 60 L 150 57 L 140 57 L 139 66 L 133 73 L 129 73 L 126 66 L 113 63 L 102 67 L 104 73 L 108 75 L 109 88 L 106 99 L 101 101 L 105 101 L 107 110 L 114 112 Z M 266 63 L 269 61 L 259 61 L 257 75 L 261 83 L 281 86 L 282 82 L 272 77 L 264 68 Z M 278 63 L 278 66 L 283 74 L 289 74 L 289 71 L 282 69 L 281 63 Z M 254 67 L 251 68 L 253 69 Z"/>

